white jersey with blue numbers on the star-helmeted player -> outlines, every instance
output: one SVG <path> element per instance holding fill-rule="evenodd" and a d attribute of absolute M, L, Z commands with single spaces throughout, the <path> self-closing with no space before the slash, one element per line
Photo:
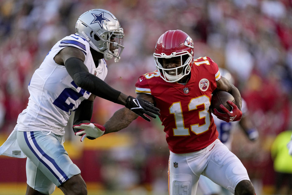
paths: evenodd
<path fill-rule="evenodd" d="M 104 59 L 96 68 L 89 43 L 76 34 L 64 37 L 49 51 L 43 63 L 34 72 L 28 85 L 28 106 L 18 117 L 18 131 L 51 131 L 64 135 L 71 112 L 88 99 L 90 92 L 78 87 L 65 66 L 54 61 L 55 55 L 65 47 L 80 49 L 85 55 L 84 64 L 89 72 L 104 80 L 107 66 Z"/>

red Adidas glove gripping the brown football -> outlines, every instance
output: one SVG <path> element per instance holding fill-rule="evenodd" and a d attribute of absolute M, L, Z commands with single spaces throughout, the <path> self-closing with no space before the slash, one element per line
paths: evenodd
<path fill-rule="evenodd" d="M 224 107 L 224 105 L 220 105 L 221 110 L 223 110 L 225 113 L 218 112 L 216 108 L 214 108 L 213 114 L 217 116 L 218 119 L 221 119 L 226 122 L 231 121 L 239 121 L 242 116 L 242 112 L 238 109 L 238 107 L 232 102 L 227 101 L 227 103 L 232 107 L 231 112 L 227 110 L 227 108 Z"/>

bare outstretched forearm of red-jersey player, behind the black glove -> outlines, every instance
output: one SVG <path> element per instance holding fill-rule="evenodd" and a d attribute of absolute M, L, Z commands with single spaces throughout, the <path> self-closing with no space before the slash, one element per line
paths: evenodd
<path fill-rule="evenodd" d="M 138 115 L 130 111 L 128 108 L 122 108 L 116 111 L 113 116 L 103 125 L 106 133 L 113 133 L 126 128 L 130 123 L 137 119 Z"/>

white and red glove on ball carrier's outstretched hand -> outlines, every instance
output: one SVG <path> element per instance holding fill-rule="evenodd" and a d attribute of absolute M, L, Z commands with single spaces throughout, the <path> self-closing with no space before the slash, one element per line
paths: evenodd
<path fill-rule="evenodd" d="M 76 132 L 75 135 L 82 136 L 80 141 L 83 141 L 85 137 L 90 140 L 94 140 L 103 135 L 105 132 L 105 127 L 99 125 L 97 123 L 80 123 L 79 125 L 74 125 L 73 128 L 81 129 L 80 131 Z"/>

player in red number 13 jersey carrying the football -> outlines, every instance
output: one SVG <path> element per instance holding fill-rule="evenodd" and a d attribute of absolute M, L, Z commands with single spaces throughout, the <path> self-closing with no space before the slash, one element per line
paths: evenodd
<path fill-rule="evenodd" d="M 160 109 L 160 120 L 169 144 L 169 194 L 196 193 L 200 175 L 207 176 L 236 195 L 254 195 L 255 190 L 241 161 L 220 142 L 210 112 L 212 93 L 228 91 L 235 97 L 229 112 L 214 110 L 226 121 L 241 119 L 241 95 L 209 57 L 194 59 L 192 39 L 181 30 L 162 34 L 155 47 L 157 70 L 139 77 L 137 97 Z M 106 133 L 127 127 L 137 115 L 122 108 L 104 126 Z M 81 128 L 81 127 L 78 127 Z M 192 192 L 193 190 L 193 192 Z"/>

